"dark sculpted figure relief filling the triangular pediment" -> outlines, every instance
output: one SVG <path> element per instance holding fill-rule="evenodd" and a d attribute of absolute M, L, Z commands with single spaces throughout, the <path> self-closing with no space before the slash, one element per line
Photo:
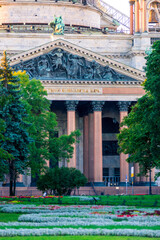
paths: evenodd
<path fill-rule="evenodd" d="M 30 78 L 40 80 L 136 81 L 108 66 L 100 65 L 95 60 L 90 62 L 60 48 L 28 61 L 21 61 L 13 69 L 26 70 Z"/>

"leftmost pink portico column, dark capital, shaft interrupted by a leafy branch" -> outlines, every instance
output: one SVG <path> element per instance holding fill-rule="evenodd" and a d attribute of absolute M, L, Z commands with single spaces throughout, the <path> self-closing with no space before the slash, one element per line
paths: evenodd
<path fill-rule="evenodd" d="M 76 130 L 75 110 L 78 105 L 78 101 L 66 101 L 67 108 L 67 134 Z M 73 157 L 68 163 L 68 167 L 76 168 L 76 149 L 74 144 Z"/>

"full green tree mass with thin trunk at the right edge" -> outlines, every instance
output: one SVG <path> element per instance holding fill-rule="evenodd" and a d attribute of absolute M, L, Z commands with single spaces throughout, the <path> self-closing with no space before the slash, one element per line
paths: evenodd
<path fill-rule="evenodd" d="M 160 41 L 147 56 L 146 76 L 146 94 L 122 122 L 118 143 L 119 151 L 129 154 L 128 162 L 139 163 L 141 175 L 150 173 L 151 194 L 151 171 L 160 167 Z"/>

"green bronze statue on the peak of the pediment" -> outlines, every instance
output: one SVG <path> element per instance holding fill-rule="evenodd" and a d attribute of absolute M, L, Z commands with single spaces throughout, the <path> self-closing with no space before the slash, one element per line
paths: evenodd
<path fill-rule="evenodd" d="M 54 20 L 49 24 L 53 28 L 54 35 L 63 35 L 64 34 L 64 23 L 62 17 L 54 16 Z"/>

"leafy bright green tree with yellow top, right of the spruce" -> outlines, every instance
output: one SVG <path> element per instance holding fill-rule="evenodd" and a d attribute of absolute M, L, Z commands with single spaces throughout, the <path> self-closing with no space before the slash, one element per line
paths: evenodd
<path fill-rule="evenodd" d="M 63 159 L 69 161 L 73 155 L 73 144 L 80 136 L 79 131 L 70 135 L 62 135 L 57 138 L 58 132 L 55 113 L 50 111 L 50 101 L 47 100 L 41 81 L 29 79 L 25 72 L 14 74 L 21 79 L 23 103 L 27 109 L 26 120 L 30 122 L 28 131 L 34 141 L 30 144 L 30 167 L 33 176 L 45 172 L 46 161 L 50 161 L 54 167 L 58 161 Z"/>

